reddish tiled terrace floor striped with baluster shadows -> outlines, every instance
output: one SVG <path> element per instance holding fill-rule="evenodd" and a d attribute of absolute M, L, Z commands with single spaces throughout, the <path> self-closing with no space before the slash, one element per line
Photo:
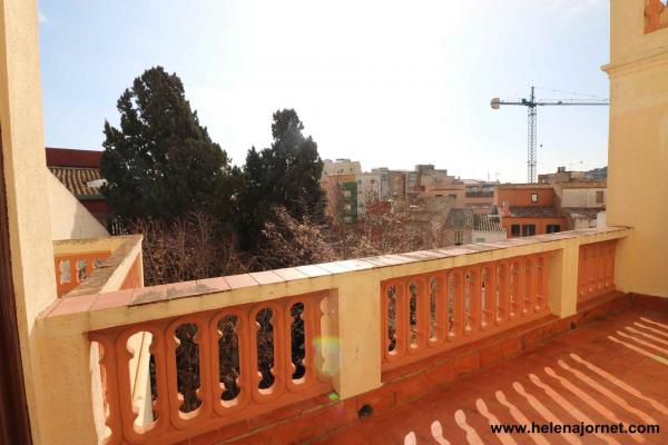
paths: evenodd
<path fill-rule="evenodd" d="M 658 424 L 660 434 L 492 434 L 490 424 Z M 371 416 L 326 444 L 668 444 L 668 312 L 629 309 Z"/>

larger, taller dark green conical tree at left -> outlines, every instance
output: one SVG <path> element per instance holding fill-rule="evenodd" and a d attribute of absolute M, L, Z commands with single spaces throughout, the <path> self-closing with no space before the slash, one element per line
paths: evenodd
<path fill-rule="evenodd" d="M 105 121 L 102 188 L 121 219 L 171 220 L 191 211 L 218 211 L 229 200 L 229 159 L 190 109 L 176 73 L 146 70 L 117 102 L 120 128 Z M 222 196 L 220 196 L 222 195 Z"/>

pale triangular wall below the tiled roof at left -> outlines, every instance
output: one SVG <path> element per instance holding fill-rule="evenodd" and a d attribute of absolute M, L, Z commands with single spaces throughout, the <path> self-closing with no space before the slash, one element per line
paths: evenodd
<path fill-rule="evenodd" d="M 109 233 L 48 169 L 47 189 L 51 219 L 51 238 L 101 238 Z"/>

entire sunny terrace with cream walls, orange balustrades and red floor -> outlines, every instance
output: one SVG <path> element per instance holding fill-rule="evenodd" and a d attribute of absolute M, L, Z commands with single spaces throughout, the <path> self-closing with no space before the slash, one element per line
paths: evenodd
<path fill-rule="evenodd" d="M 668 31 L 611 4 L 609 227 L 143 287 L 140 237 L 51 239 L 37 7 L 0 0 L 0 442 L 666 443 Z M 662 428 L 490 429 L 549 422 Z"/>

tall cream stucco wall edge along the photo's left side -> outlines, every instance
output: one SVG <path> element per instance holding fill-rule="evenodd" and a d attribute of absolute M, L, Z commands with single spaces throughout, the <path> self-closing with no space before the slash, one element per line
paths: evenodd
<path fill-rule="evenodd" d="M 62 431 L 69 425 L 53 425 L 50 414 L 59 409 L 70 411 L 71 416 L 79 413 L 71 404 L 57 407 L 51 403 L 53 396 L 45 376 L 59 370 L 48 368 L 36 323 L 39 314 L 56 299 L 56 280 L 49 202 L 45 192 L 47 176 L 39 174 L 47 166 L 35 0 L 0 0 L 0 127 L 26 396 L 33 443 L 55 444 L 55 436 L 49 438 L 49 432 Z M 86 368 L 87 360 L 88 357 L 82 357 Z M 90 394 L 87 388 L 77 388 L 79 390 Z"/>

